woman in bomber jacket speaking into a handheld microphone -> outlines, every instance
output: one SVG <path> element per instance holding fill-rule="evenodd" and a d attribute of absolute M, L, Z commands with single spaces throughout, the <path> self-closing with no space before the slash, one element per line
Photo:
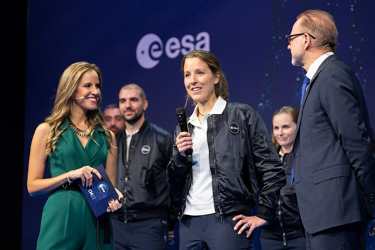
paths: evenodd
<path fill-rule="evenodd" d="M 180 193 L 180 249 L 249 249 L 252 231 L 277 207 L 283 165 L 258 112 L 228 102 L 228 83 L 211 52 L 187 53 L 181 70 L 195 109 L 189 132 L 176 127 L 167 168 L 171 191 Z"/>

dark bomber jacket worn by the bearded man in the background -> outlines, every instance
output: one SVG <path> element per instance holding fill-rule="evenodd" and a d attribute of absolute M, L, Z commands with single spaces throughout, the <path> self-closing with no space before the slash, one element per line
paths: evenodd
<path fill-rule="evenodd" d="M 172 133 L 145 119 L 132 136 L 126 162 L 126 133 L 117 138 L 116 186 L 124 195 L 123 206 L 111 213 L 123 222 L 165 218 L 169 231 L 177 221 L 176 195 L 166 185 L 166 166 L 172 156 Z"/>

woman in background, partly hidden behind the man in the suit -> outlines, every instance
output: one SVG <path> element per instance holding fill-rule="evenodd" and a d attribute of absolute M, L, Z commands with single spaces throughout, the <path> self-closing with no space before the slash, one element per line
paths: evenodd
<path fill-rule="evenodd" d="M 295 249 L 305 250 L 298 213 L 297 196 L 294 184 L 290 185 L 294 135 L 298 120 L 298 110 L 291 106 L 278 109 L 272 118 L 272 142 L 285 165 L 287 185 L 282 187 L 278 207 L 273 211 L 269 224 L 263 226 L 260 242 L 264 250 Z"/>

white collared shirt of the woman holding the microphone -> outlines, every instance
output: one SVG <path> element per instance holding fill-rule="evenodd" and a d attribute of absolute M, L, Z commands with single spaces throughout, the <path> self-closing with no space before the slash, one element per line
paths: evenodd
<path fill-rule="evenodd" d="M 195 106 L 193 114 L 188 123 L 194 126 L 193 139 L 193 161 L 197 162 L 192 168 L 192 184 L 186 198 L 184 214 L 205 215 L 215 213 L 212 192 L 212 175 L 210 171 L 210 159 L 208 157 L 207 143 L 207 120 L 213 114 L 222 114 L 226 101 L 220 96 L 208 114 L 204 114 L 202 123 L 198 119 L 198 105 Z M 203 114 L 202 114 L 203 115 Z"/>

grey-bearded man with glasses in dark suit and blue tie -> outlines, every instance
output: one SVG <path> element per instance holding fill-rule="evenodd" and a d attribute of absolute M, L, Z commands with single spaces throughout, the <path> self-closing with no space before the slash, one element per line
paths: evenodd
<path fill-rule="evenodd" d="M 375 210 L 375 157 L 362 89 L 333 54 L 338 31 L 329 13 L 306 10 L 286 37 L 292 64 L 307 71 L 293 146 L 306 247 L 358 249 Z"/>

